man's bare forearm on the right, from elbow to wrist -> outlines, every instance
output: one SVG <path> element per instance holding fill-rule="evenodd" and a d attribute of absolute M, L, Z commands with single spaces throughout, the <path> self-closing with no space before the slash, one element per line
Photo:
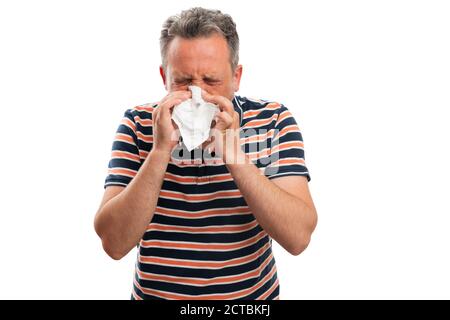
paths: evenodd
<path fill-rule="evenodd" d="M 238 156 L 241 161 L 227 167 L 256 220 L 287 251 L 299 254 L 314 230 L 315 209 L 261 174 L 245 153 Z"/>

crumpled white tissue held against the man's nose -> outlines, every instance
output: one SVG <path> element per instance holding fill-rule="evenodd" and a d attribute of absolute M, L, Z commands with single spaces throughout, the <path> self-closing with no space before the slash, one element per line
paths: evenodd
<path fill-rule="evenodd" d="M 219 112 L 219 108 L 202 98 L 202 89 L 189 86 L 192 99 L 175 106 L 172 119 L 177 124 L 183 143 L 189 151 L 201 145 L 209 137 L 211 122 Z"/>

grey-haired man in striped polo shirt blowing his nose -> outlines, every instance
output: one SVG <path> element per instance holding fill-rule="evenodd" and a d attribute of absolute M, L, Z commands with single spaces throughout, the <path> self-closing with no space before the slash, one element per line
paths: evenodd
<path fill-rule="evenodd" d="M 298 255 L 317 221 L 296 121 L 282 104 L 234 94 L 242 66 L 229 15 L 183 11 L 160 45 L 168 94 L 128 109 L 117 130 L 95 218 L 103 248 L 121 259 L 138 246 L 132 299 L 278 299 L 272 239 Z M 190 85 L 220 112 L 189 153 L 171 114 Z"/>

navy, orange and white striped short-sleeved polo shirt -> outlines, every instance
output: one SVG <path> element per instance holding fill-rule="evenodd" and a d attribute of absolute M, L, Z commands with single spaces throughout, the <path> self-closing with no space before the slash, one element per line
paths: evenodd
<path fill-rule="evenodd" d="M 277 102 L 235 95 L 241 148 L 268 179 L 308 181 L 303 139 Z M 152 149 L 156 103 L 125 111 L 104 187 L 126 186 Z M 264 199 L 261 199 L 263 201 Z M 272 239 L 221 159 L 178 145 L 138 244 L 131 299 L 279 299 Z"/>

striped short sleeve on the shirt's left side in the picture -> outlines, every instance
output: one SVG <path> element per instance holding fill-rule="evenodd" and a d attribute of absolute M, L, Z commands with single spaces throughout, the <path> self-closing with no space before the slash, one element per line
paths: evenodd
<path fill-rule="evenodd" d="M 112 144 L 108 175 L 104 188 L 127 186 L 141 166 L 136 134 L 136 123 L 131 110 L 125 111 Z"/>

